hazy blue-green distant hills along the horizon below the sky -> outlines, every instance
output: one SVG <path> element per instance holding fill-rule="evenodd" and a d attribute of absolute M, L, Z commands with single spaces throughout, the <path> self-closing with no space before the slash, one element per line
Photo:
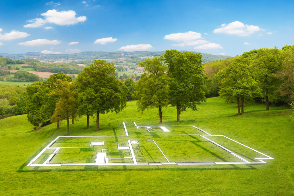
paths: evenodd
<path fill-rule="evenodd" d="M 182 51 L 185 52 L 185 51 Z M 8 54 L 8 53 L 0 53 L 2 57 L 8 57 L 11 59 L 23 59 L 23 58 L 38 58 L 38 59 L 65 59 L 65 60 L 75 60 L 75 59 L 136 59 L 140 57 L 152 57 L 152 56 L 160 56 L 164 54 L 165 51 L 160 52 L 148 52 L 148 51 L 135 51 L 135 52 L 80 52 L 75 54 L 43 54 L 41 52 L 27 52 L 24 54 Z M 230 56 L 223 55 L 213 55 L 202 53 L 203 63 L 211 62 L 214 60 L 225 59 Z"/>

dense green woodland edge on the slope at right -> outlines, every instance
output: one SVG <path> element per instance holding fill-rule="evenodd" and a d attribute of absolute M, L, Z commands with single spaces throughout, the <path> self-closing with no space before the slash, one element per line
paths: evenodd
<path fill-rule="evenodd" d="M 281 105 L 294 102 L 294 45 L 260 48 L 240 56 L 204 64 L 209 76 L 207 96 L 236 101 L 238 115 L 244 101 Z"/>

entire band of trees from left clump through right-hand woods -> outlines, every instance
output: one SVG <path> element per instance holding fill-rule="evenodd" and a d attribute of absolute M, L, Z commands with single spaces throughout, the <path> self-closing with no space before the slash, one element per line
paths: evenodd
<path fill-rule="evenodd" d="M 261 48 L 245 52 L 241 56 L 202 64 L 202 54 L 166 50 L 152 59 L 139 63 L 144 73 L 140 80 L 119 81 L 113 63 L 95 60 L 78 74 L 75 81 L 62 73 L 44 82 L 36 81 L 27 86 L 17 101 L 18 108 L 28 114 L 35 126 L 48 121 L 59 122 L 79 116 L 96 116 L 119 112 L 126 101 L 137 99 L 138 110 L 157 108 L 162 123 L 163 108 L 170 105 L 180 114 L 187 108 L 197 110 L 206 96 L 216 95 L 227 102 L 237 102 L 238 115 L 244 113 L 245 101 L 292 103 L 294 100 L 294 45 L 279 50 Z M 21 102 L 21 100 L 23 100 Z"/>

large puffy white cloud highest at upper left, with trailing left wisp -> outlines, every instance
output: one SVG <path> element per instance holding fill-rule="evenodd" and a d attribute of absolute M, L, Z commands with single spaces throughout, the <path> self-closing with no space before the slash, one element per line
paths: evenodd
<path fill-rule="evenodd" d="M 84 22 L 86 21 L 86 16 L 79 16 L 76 17 L 76 12 L 73 10 L 69 11 L 56 11 L 48 10 L 45 13 L 41 13 L 41 16 L 44 16 L 44 18 L 35 18 L 31 19 L 27 22 L 31 22 L 30 24 L 24 25 L 24 27 L 40 27 L 46 23 L 54 23 L 56 25 L 73 25 L 78 22 Z"/>

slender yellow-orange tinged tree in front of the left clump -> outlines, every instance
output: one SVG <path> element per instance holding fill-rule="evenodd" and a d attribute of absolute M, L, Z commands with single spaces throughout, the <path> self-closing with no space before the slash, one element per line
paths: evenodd
<path fill-rule="evenodd" d="M 74 117 L 78 108 L 78 93 L 74 83 L 57 79 L 54 83 L 57 88 L 49 96 L 59 97 L 55 112 L 52 116 L 54 121 L 66 119 L 66 132 L 69 134 L 69 118 Z"/>

